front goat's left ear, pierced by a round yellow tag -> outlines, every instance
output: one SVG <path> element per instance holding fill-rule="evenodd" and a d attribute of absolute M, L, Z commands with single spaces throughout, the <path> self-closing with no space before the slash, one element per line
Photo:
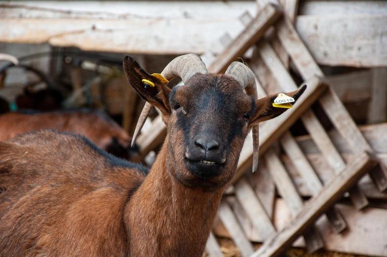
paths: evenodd
<path fill-rule="evenodd" d="M 152 76 L 144 71 L 140 65 L 130 56 L 125 56 L 123 59 L 123 69 L 129 83 L 137 91 L 137 93 L 147 102 L 157 107 L 163 114 L 171 112 L 169 108 L 169 94 L 171 89 L 166 86 L 166 82 Z M 150 81 L 148 86 L 145 86 L 143 79 Z M 152 85 L 152 83 L 154 85 Z"/>

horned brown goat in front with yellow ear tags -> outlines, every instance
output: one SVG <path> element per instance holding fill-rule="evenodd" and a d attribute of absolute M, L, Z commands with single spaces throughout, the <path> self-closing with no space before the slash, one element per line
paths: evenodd
<path fill-rule="evenodd" d="M 197 55 L 177 57 L 161 73 L 182 78 L 173 90 L 130 57 L 124 69 L 168 128 L 155 164 L 148 173 L 54 131 L 0 142 L 0 256 L 202 256 L 248 132 L 286 109 L 257 99 L 237 62 L 207 74 Z"/>

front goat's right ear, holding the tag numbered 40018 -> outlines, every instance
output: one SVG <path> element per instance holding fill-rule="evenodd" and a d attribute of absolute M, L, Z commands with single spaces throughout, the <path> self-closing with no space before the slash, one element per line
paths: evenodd
<path fill-rule="evenodd" d="M 286 93 L 285 95 L 294 98 L 294 102 L 292 103 L 292 105 L 294 105 L 300 96 L 304 93 L 305 89 L 307 89 L 307 85 L 304 85 L 299 90 Z M 286 108 L 273 107 L 274 100 L 277 98 L 277 96 L 278 94 L 274 94 L 255 101 L 256 111 L 251 118 L 249 123 L 250 126 L 254 126 L 262 121 L 275 118 L 288 110 Z"/>

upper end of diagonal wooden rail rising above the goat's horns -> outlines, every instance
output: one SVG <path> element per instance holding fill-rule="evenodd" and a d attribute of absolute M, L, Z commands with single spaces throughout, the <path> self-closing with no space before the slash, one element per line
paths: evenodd
<path fill-rule="evenodd" d="M 232 61 L 235 61 L 237 57 L 242 57 L 243 53 L 263 36 L 265 31 L 278 20 L 281 14 L 276 5 L 266 5 L 262 12 L 260 12 L 260 15 L 232 41 L 225 51 L 216 57 L 212 65 L 207 68 L 208 72 L 225 72 Z"/>

